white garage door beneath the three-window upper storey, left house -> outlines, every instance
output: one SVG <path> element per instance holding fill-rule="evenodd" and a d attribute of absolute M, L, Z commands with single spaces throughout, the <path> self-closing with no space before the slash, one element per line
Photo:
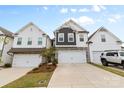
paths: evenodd
<path fill-rule="evenodd" d="M 37 67 L 42 62 L 39 54 L 15 54 L 13 67 Z"/>

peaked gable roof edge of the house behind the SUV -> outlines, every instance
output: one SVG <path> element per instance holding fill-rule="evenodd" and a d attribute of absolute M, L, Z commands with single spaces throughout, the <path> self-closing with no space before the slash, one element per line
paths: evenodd
<path fill-rule="evenodd" d="M 100 27 L 98 30 L 96 30 L 89 38 L 88 41 L 91 40 L 91 38 L 99 31 L 106 31 L 108 32 L 111 36 L 113 36 L 118 42 L 122 42 L 117 36 L 115 36 L 113 33 L 111 33 L 108 29 L 106 29 L 105 27 Z"/>

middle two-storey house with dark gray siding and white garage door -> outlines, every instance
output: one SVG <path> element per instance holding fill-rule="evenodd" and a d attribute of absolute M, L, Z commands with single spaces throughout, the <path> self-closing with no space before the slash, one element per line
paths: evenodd
<path fill-rule="evenodd" d="M 55 30 L 55 48 L 58 63 L 86 63 L 88 31 L 73 20 Z"/>

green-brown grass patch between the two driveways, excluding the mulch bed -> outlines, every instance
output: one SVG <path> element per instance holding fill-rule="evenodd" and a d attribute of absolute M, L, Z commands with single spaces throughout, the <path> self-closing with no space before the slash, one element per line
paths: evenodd
<path fill-rule="evenodd" d="M 47 87 L 53 72 L 30 73 L 25 76 L 3 86 L 2 88 L 31 88 L 31 87 Z M 45 80 L 44 83 L 39 83 Z"/>

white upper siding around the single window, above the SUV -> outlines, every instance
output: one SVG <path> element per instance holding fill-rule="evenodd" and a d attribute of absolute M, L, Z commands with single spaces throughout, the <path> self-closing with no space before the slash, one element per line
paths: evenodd
<path fill-rule="evenodd" d="M 101 42 L 101 35 L 105 35 L 106 42 Z M 97 32 L 95 36 L 92 37 L 91 41 L 93 42 L 90 44 L 90 49 L 92 51 L 121 49 L 121 46 L 117 43 L 117 40 L 107 32 Z"/>

